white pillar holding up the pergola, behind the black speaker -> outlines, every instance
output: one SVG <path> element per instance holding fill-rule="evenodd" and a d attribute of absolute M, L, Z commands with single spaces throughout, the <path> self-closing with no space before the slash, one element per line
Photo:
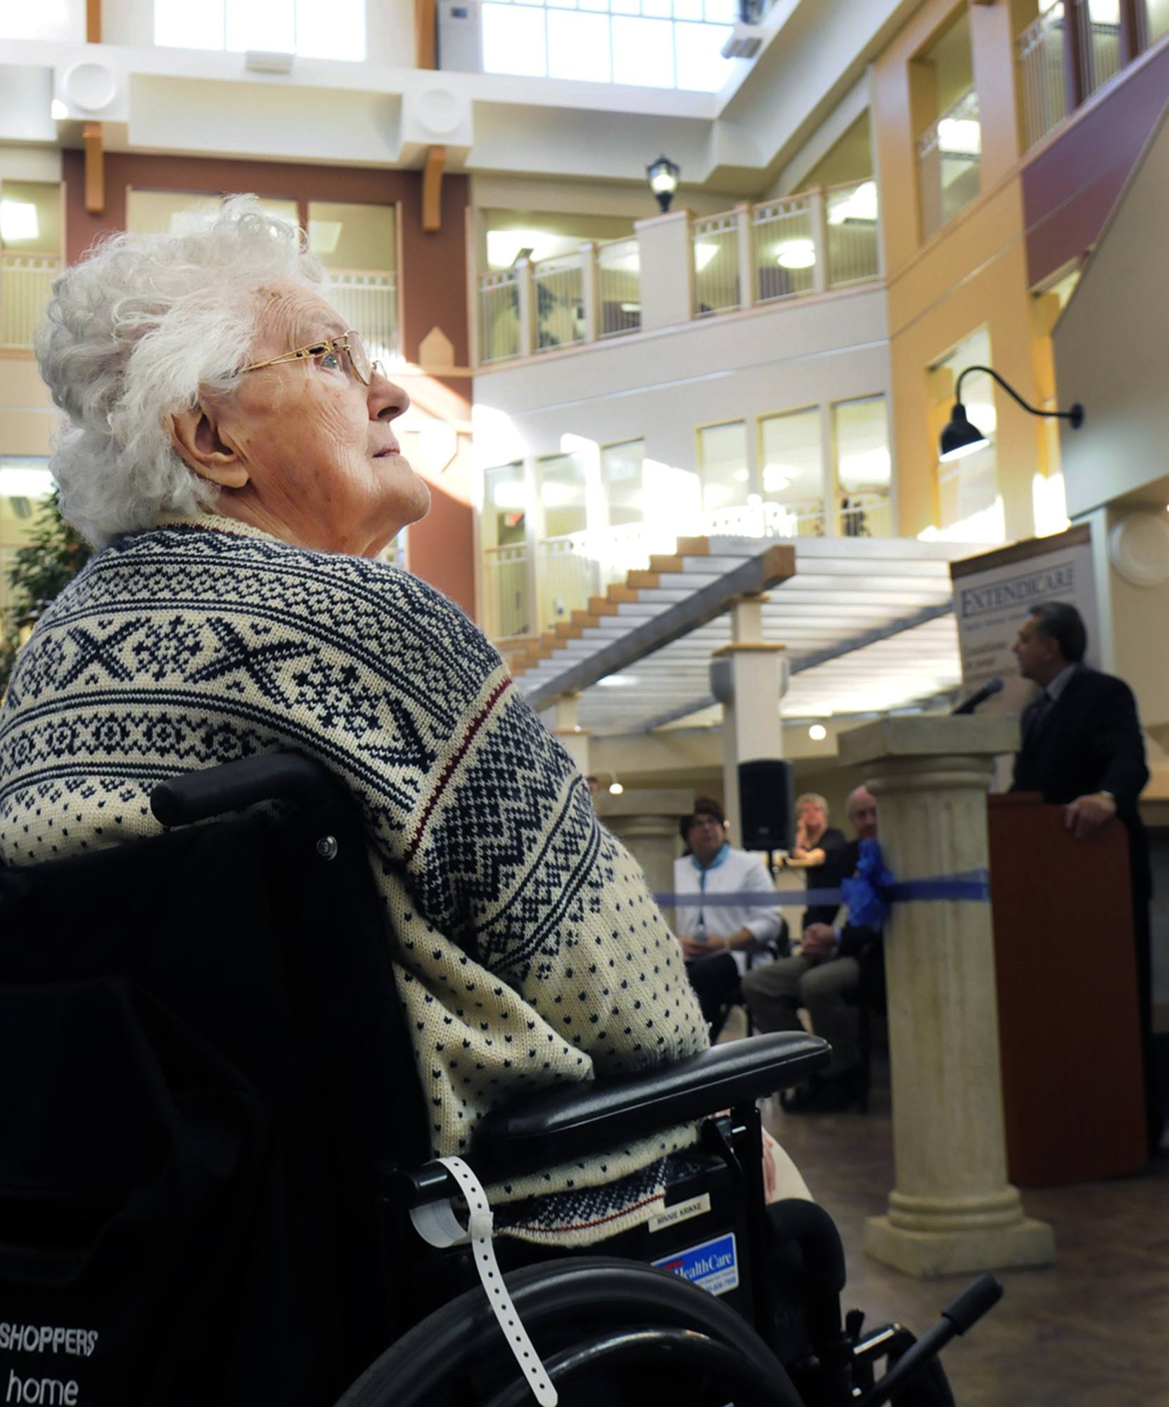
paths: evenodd
<path fill-rule="evenodd" d="M 739 764 L 784 756 L 779 701 L 786 691 L 785 646 L 762 639 L 767 599 L 754 595 L 732 602 L 732 643 L 710 657 L 710 682 L 723 705 L 723 803 L 734 846 L 743 843 Z"/>

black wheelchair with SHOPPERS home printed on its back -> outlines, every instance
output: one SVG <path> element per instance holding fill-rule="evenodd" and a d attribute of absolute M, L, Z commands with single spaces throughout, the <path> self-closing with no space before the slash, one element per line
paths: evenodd
<path fill-rule="evenodd" d="M 158 837 L 0 870 L 0 1399 L 532 1401 L 470 1248 L 411 1223 L 456 1189 L 429 1161 L 349 798 L 269 756 L 165 782 L 152 808 Z M 490 1185 L 702 1121 L 665 1211 L 603 1255 L 495 1242 L 564 1407 L 952 1403 L 937 1354 L 997 1282 L 920 1339 L 865 1328 L 841 1317 L 827 1214 L 764 1206 L 757 1100 L 826 1058 L 757 1037 L 484 1123 Z"/>

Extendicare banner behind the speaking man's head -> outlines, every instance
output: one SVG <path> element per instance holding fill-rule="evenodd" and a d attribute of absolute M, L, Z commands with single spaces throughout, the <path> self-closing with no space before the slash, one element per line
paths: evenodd
<path fill-rule="evenodd" d="M 1092 529 L 1085 523 L 1054 537 L 1031 537 L 950 564 L 954 616 L 962 656 L 962 692 L 972 694 L 996 674 L 1006 688 L 980 705 L 980 713 L 1021 713 L 1034 685 L 1018 677 L 1011 654 L 1018 626 L 1037 605 L 1066 601 L 1087 626 L 1087 661 L 1099 666 Z"/>

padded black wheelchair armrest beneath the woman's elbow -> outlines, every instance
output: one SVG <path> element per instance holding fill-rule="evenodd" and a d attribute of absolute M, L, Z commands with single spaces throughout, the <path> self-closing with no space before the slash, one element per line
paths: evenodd
<path fill-rule="evenodd" d="M 656 1128 L 692 1123 L 805 1081 L 829 1061 L 819 1036 L 778 1031 L 713 1045 L 627 1079 L 546 1089 L 492 1110 L 475 1131 L 474 1162 L 491 1180 L 551 1168 Z"/>

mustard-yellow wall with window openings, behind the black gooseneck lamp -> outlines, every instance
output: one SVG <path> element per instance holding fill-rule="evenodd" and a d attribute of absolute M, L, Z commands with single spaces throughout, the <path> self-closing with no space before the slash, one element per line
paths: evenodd
<path fill-rule="evenodd" d="M 1027 281 L 1014 28 L 1006 4 L 969 4 L 971 58 L 982 120 L 980 196 L 927 245 L 920 234 L 917 136 L 935 115 L 934 76 L 921 63 L 961 14 L 927 0 L 874 65 L 874 128 L 893 383 L 899 530 L 935 522 L 937 440 L 928 367 L 986 326 L 995 370 L 1035 404 L 1052 394 L 1049 343 Z M 1034 532 L 1031 480 L 1045 470 L 1042 424 L 996 388 L 999 492 L 1007 537 Z"/>

